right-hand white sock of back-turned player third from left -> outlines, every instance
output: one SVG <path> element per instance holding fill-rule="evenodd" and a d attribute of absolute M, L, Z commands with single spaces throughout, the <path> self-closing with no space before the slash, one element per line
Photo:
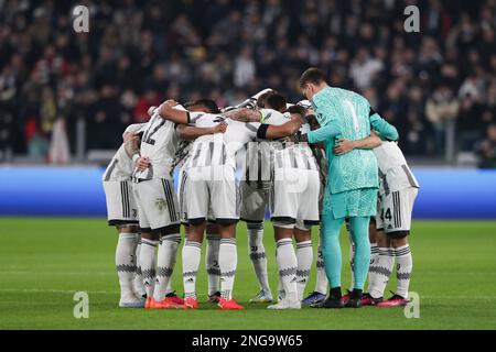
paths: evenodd
<path fill-rule="evenodd" d="M 224 299 L 233 298 L 233 287 L 238 266 L 236 239 L 222 239 L 218 250 L 218 266 L 220 268 L 220 294 Z"/>

